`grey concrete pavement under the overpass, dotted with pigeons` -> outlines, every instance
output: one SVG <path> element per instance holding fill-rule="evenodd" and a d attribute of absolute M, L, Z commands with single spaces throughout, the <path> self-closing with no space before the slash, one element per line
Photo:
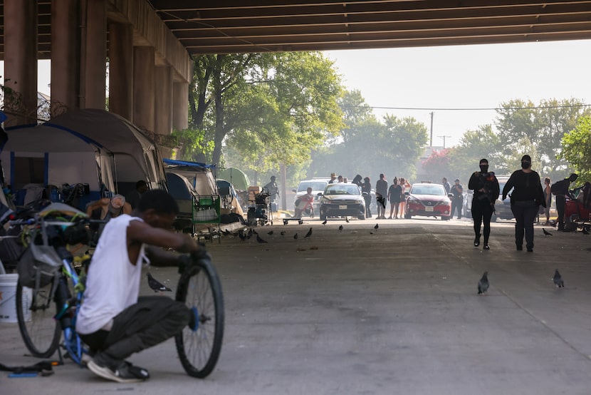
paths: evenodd
<path fill-rule="evenodd" d="M 1 372 L 1 394 L 591 394 L 591 237 L 547 229 L 536 225 L 528 253 L 511 222 L 493 224 L 490 251 L 474 247 L 470 220 L 257 227 L 267 244 L 207 243 L 226 333 L 206 379 L 184 373 L 171 340 L 132 356 L 152 374 L 145 383 L 66 361 L 48 377 Z M 491 288 L 478 296 L 485 270 Z M 174 288 L 175 270 L 151 271 Z M 0 362 L 37 361 L 24 354 L 17 325 L 0 324 Z"/>

